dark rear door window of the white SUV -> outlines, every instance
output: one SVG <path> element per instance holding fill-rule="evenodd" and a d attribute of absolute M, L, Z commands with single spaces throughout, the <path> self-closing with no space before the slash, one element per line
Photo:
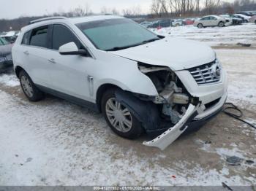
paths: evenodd
<path fill-rule="evenodd" d="M 48 26 L 35 28 L 31 33 L 30 45 L 47 48 L 48 31 Z"/>

